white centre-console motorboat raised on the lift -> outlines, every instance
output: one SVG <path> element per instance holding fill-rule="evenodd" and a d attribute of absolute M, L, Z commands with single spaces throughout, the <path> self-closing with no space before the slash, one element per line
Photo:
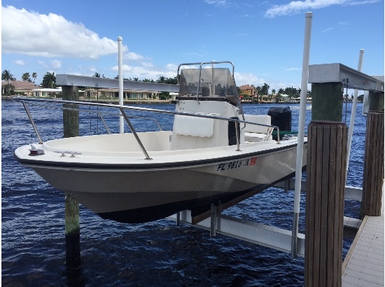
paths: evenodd
<path fill-rule="evenodd" d="M 234 69 L 228 61 L 179 65 L 175 111 L 43 99 L 118 108 L 131 132 L 40 141 L 17 148 L 15 159 L 102 218 L 123 223 L 198 212 L 292 177 L 297 137 L 274 140 L 279 127 L 270 116 L 244 114 Z M 172 114 L 172 130 L 136 132 L 127 110 Z"/>

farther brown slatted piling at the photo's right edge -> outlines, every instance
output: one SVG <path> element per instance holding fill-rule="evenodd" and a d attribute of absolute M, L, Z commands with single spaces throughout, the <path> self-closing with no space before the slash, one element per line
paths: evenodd
<path fill-rule="evenodd" d="M 384 183 L 384 92 L 370 93 L 360 216 L 381 216 Z"/>

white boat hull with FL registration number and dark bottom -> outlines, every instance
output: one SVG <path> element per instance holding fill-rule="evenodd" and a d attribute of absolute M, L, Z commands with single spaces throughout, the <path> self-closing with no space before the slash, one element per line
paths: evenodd
<path fill-rule="evenodd" d="M 167 132 L 158 135 L 166 137 Z M 95 142 L 100 148 L 104 140 L 124 137 L 127 141 L 132 134 L 93 137 L 99 137 Z M 191 153 L 152 151 L 149 153 L 153 160 L 145 160 L 141 152 L 116 151 L 115 156 L 106 156 L 93 151 L 93 137 L 88 137 L 89 141 L 82 137 L 82 145 L 88 148 L 75 158 L 55 153 L 60 148 L 55 144 L 63 140 L 36 144 L 36 148 L 45 150 L 43 156 L 27 155 L 29 146 L 24 146 L 15 151 L 15 157 L 102 218 L 127 223 L 153 221 L 183 209 L 218 203 L 223 197 L 279 181 L 295 172 L 295 141 L 243 144 L 241 151 L 236 151 L 235 146 Z"/>

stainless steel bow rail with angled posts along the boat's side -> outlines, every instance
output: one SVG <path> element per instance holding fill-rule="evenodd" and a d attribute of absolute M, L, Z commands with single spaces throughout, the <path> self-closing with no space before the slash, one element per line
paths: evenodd
<path fill-rule="evenodd" d="M 62 99 L 21 99 L 21 98 L 15 98 L 14 99 L 16 102 L 22 102 L 25 107 L 27 104 L 25 102 L 50 102 L 50 103 L 55 103 L 55 104 L 78 104 L 78 105 L 85 105 L 85 106 L 103 106 L 106 108 L 114 108 L 114 109 L 119 109 L 121 113 L 123 114 L 123 117 L 125 118 L 127 124 L 130 127 L 130 130 L 132 131 L 132 134 L 134 134 L 135 139 L 137 140 L 137 143 L 139 144 L 141 150 L 143 151 L 144 155 L 146 156 L 146 160 L 152 160 L 150 156 L 148 155 L 146 148 L 144 148 L 144 145 L 141 143 L 141 140 L 139 139 L 139 136 L 137 132 L 134 130 L 134 127 L 132 126 L 132 123 L 130 122 L 130 118 L 128 118 L 127 114 L 124 113 L 124 110 L 133 110 L 133 111 L 146 111 L 146 112 L 152 112 L 152 113 L 165 113 L 169 115 L 181 115 L 181 116 L 192 116 L 196 118 L 212 118 L 214 120 L 226 120 L 226 121 L 232 121 L 235 123 L 244 123 L 244 124 L 250 124 L 250 125 L 260 125 L 262 127 L 269 127 L 272 130 L 276 130 L 277 134 L 279 134 L 279 127 L 276 127 L 274 125 L 263 125 L 260 123 L 253 123 L 253 122 L 248 122 L 246 120 L 239 120 L 236 118 L 223 118 L 223 117 L 218 117 L 218 116 L 211 116 L 203 113 L 186 113 L 186 112 L 179 112 L 179 111 L 163 111 L 163 110 L 158 110 L 158 109 L 148 109 L 148 108 L 141 108 L 137 106 L 120 106 L 120 105 L 115 105 L 115 104 L 102 104 L 102 103 L 94 103 L 94 102 L 76 102 L 76 101 L 66 101 Z M 80 110 L 80 109 L 79 109 Z M 34 130 L 38 136 L 39 139 L 39 144 L 43 144 L 43 141 L 41 141 L 41 137 L 38 134 L 38 130 L 36 125 L 34 124 L 34 120 L 31 117 L 31 114 L 29 113 L 28 109 L 26 109 L 27 115 L 29 117 L 29 120 L 31 121 L 32 125 L 34 126 Z M 81 110 L 80 110 L 81 111 Z M 86 111 L 89 112 L 89 111 Z M 236 138 L 237 138 L 237 151 L 241 151 L 239 149 L 239 129 L 237 128 L 237 125 L 235 125 L 235 132 L 236 132 Z M 277 144 L 281 144 L 281 141 L 279 137 L 277 138 Z"/>

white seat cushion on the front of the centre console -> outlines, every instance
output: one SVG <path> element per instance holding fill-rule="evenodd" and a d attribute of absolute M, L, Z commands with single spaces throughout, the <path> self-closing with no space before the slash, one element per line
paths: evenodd
<path fill-rule="evenodd" d="M 216 116 L 212 113 L 209 115 Z M 214 119 L 175 115 L 174 132 L 180 136 L 213 137 Z"/>

